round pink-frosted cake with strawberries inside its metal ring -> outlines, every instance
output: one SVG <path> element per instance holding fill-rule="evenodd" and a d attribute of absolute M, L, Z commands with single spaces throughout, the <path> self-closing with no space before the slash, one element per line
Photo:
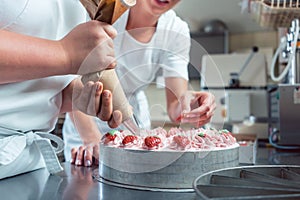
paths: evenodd
<path fill-rule="evenodd" d="M 230 132 L 212 128 L 111 131 L 100 143 L 98 173 L 123 187 L 192 190 L 199 175 L 238 166 L 238 147 Z"/>

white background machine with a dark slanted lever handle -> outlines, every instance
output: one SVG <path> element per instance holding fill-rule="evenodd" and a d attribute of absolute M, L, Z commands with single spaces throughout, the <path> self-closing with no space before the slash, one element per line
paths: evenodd
<path fill-rule="evenodd" d="M 211 123 L 220 128 L 251 116 L 257 121 L 266 120 L 266 71 L 265 55 L 261 52 L 204 55 L 201 88 L 212 92 L 217 103 Z M 232 73 L 239 73 L 238 85 L 232 86 Z"/>

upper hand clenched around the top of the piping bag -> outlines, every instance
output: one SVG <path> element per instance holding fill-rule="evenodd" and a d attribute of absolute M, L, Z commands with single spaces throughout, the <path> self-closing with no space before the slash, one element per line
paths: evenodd
<path fill-rule="evenodd" d="M 109 24 L 89 21 L 76 26 L 59 42 L 71 67 L 66 74 L 87 74 L 114 68 L 112 38 L 116 30 Z"/>

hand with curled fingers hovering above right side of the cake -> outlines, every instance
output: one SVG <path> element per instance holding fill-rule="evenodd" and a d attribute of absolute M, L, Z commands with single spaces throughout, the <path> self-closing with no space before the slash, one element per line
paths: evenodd
<path fill-rule="evenodd" d="M 190 123 L 196 127 L 210 122 L 216 109 L 215 97 L 209 92 L 187 91 L 180 98 L 182 114 L 177 122 Z"/>

